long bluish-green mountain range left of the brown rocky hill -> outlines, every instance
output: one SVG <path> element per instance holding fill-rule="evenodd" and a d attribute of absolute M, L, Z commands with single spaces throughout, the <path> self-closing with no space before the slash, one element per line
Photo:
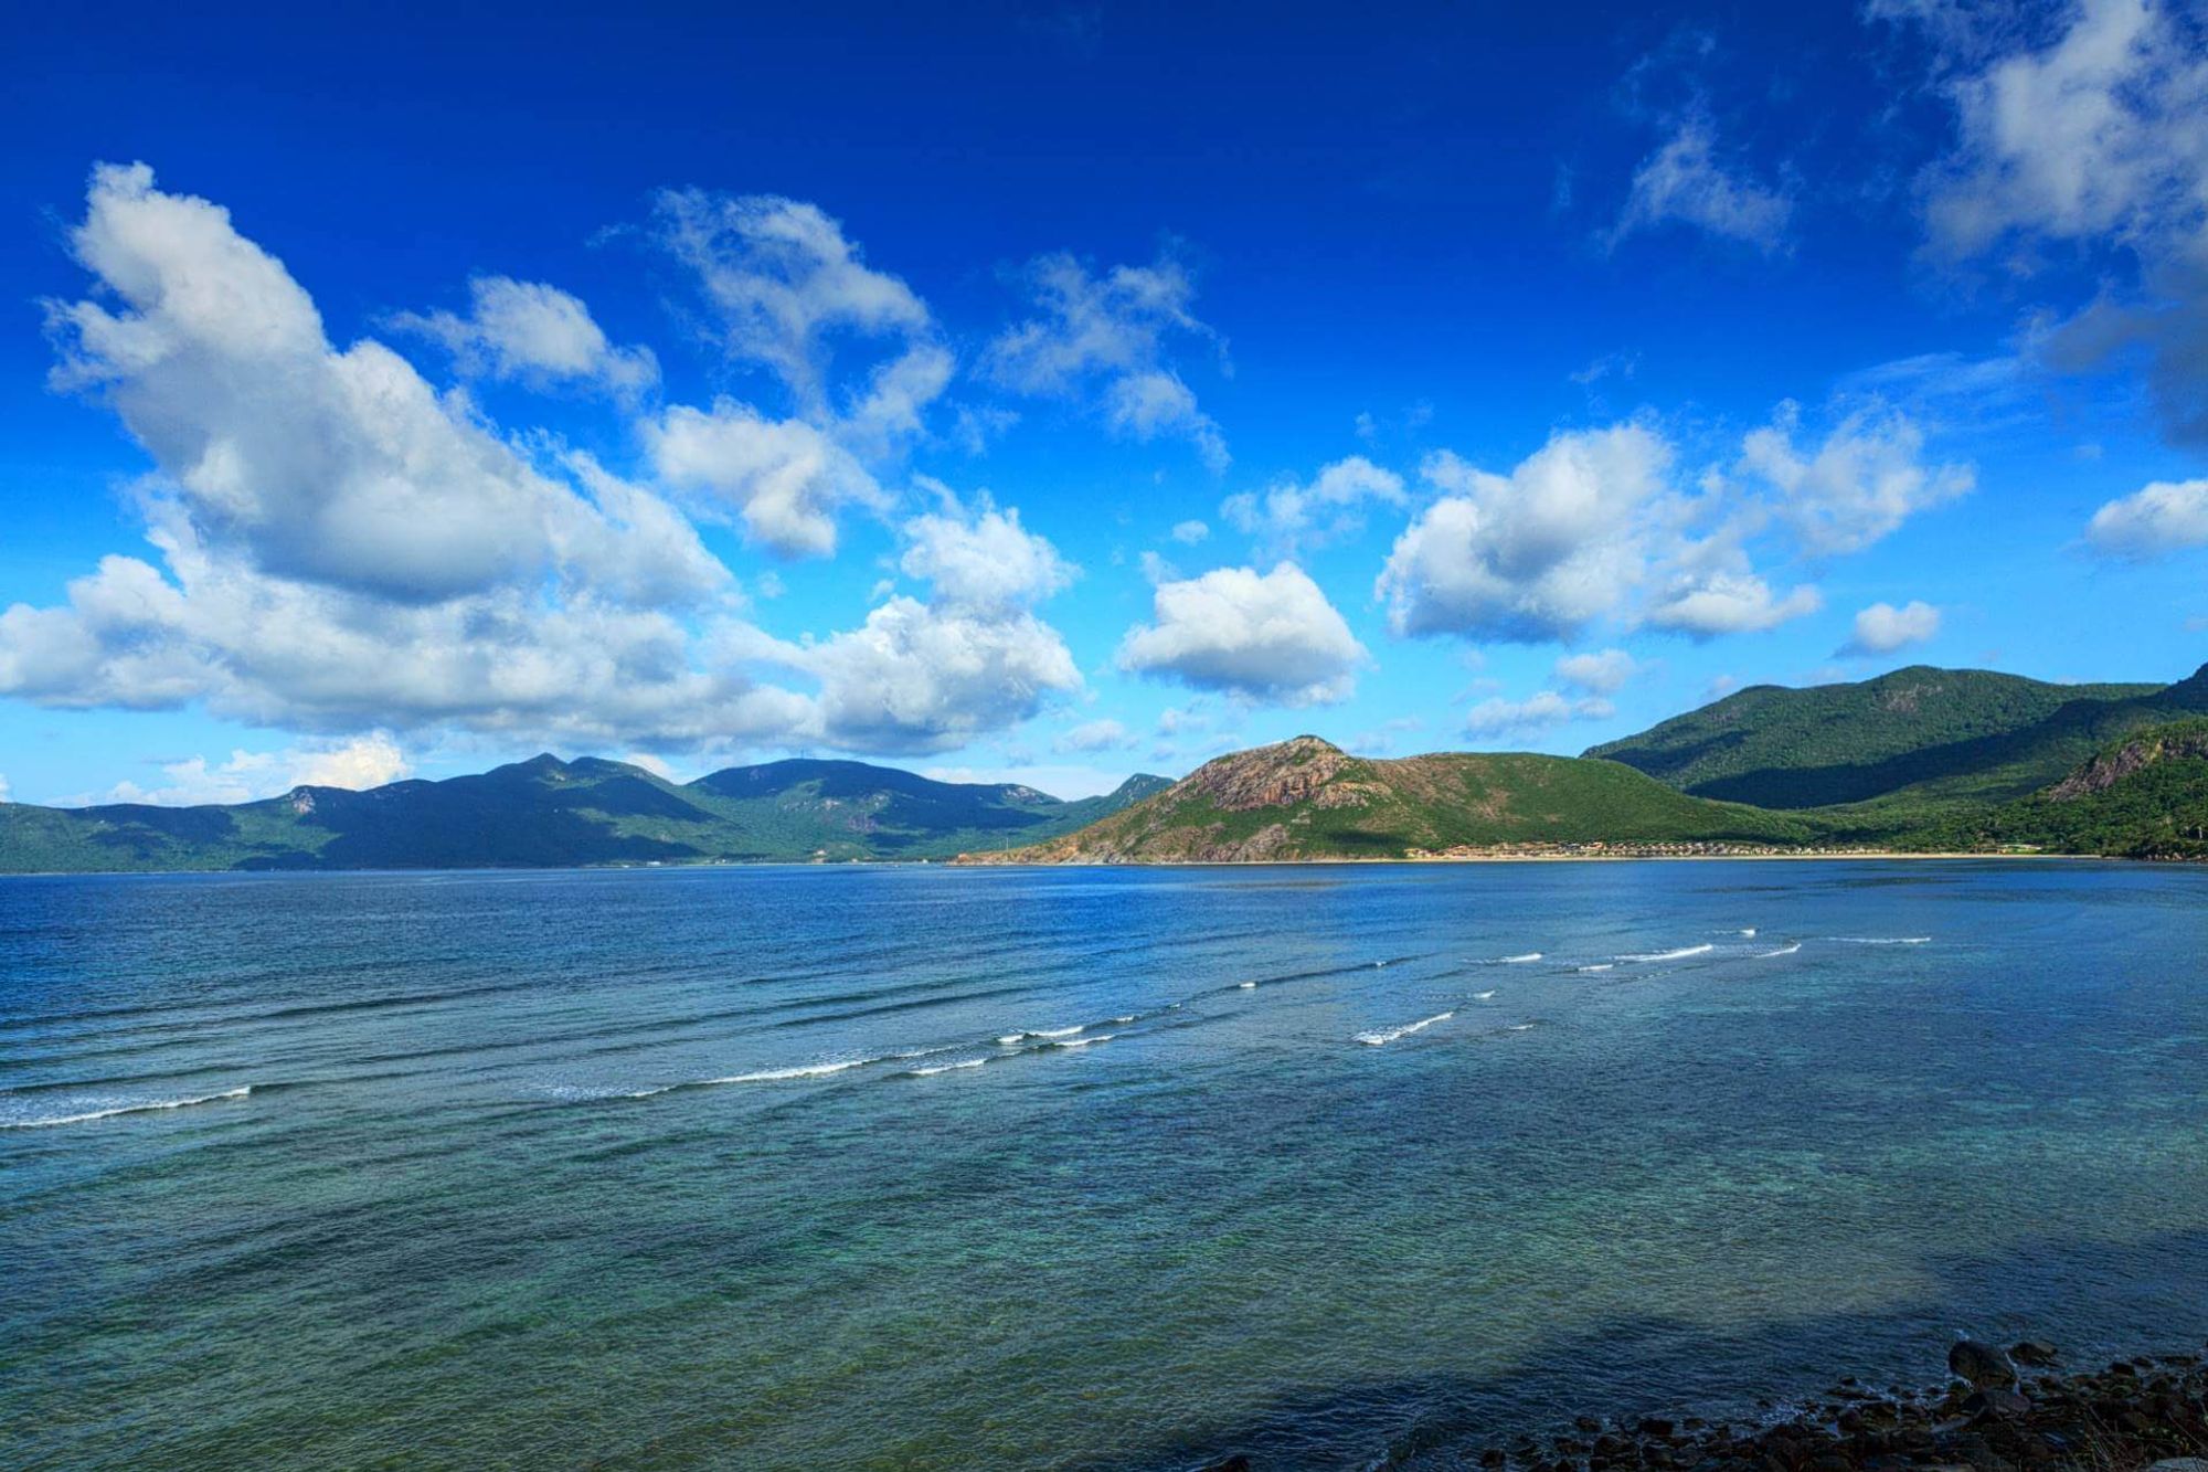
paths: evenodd
<path fill-rule="evenodd" d="M 768 763 L 676 785 L 625 763 L 537 756 L 479 776 L 227 807 L 0 805 L 0 873 L 492 869 L 949 858 L 1073 831 L 1164 789 L 1135 776 L 1062 802 L 866 763 Z"/>

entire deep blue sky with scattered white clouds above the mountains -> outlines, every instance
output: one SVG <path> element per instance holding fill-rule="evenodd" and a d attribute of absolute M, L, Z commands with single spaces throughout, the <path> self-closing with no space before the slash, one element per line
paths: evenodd
<path fill-rule="evenodd" d="M 15 18 L 0 798 L 2208 659 L 2199 9 L 687 9 Z"/>

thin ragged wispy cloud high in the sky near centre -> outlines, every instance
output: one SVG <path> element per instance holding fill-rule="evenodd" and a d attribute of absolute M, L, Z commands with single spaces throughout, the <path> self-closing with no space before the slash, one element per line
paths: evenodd
<path fill-rule="evenodd" d="M 1022 285 L 1036 316 L 989 343 L 983 374 L 1013 393 L 1095 393 L 1104 422 L 1135 440 L 1181 438 L 1225 471 L 1228 444 L 1168 360 L 1168 340 L 1219 336 L 1197 320 L 1195 276 L 1170 254 L 1093 274 L 1071 254 L 1029 263 Z"/>

